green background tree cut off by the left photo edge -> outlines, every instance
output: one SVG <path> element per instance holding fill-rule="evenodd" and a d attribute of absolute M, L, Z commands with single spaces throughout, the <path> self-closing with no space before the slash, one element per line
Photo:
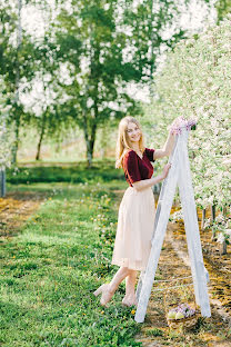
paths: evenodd
<path fill-rule="evenodd" d="M 19 146 L 19 128 L 23 123 L 26 115 L 29 117 L 20 92 L 24 93 L 38 71 L 34 59 L 36 44 L 31 36 L 22 30 L 21 10 L 21 0 L 8 1 L 0 10 L 0 30 L 2 32 L 0 40 L 1 107 L 8 108 L 7 120 L 14 132 L 11 146 L 11 161 L 13 162 L 16 162 Z M 24 88 L 20 88 L 22 86 Z"/>

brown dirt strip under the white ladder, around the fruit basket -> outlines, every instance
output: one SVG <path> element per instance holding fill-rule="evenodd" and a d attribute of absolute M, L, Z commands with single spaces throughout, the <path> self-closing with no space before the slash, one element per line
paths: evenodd
<path fill-rule="evenodd" d="M 161 251 L 157 279 L 175 279 L 179 277 L 191 276 L 191 269 L 188 262 L 188 251 L 185 239 L 182 235 L 179 236 L 179 226 L 169 224 L 167 237 Z M 187 264 L 188 262 L 188 264 Z M 174 303 L 177 296 L 182 303 L 193 304 L 193 286 L 192 279 L 182 279 L 172 282 L 155 282 L 152 288 L 151 298 L 147 311 L 145 321 L 142 326 L 141 334 L 137 336 L 139 341 L 143 343 L 145 347 L 152 346 L 231 346 L 231 336 L 228 337 L 228 331 L 231 328 L 230 320 L 230 291 L 219 291 L 219 282 L 223 282 L 223 287 L 229 286 L 228 278 L 222 277 L 213 267 L 205 267 L 210 275 L 209 295 L 212 310 L 212 317 L 207 318 L 198 325 L 197 329 L 182 333 L 172 331 L 169 329 L 165 320 L 165 308 L 170 308 L 170 304 Z M 164 286 L 163 286 L 164 284 Z M 155 291 L 161 288 L 169 288 L 169 286 L 185 285 L 182 289 L 172 289 Z M 164 306 L 165 293 L 165 306 Z M 162 336 L 157 336 L 162 334 Z"/>

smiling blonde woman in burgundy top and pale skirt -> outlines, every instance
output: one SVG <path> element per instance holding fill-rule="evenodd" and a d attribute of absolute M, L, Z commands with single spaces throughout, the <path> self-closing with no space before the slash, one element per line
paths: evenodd
<path fill-rule="evenodd" d="M 150 161 L 169 156 L 174 136 L 169 133 L 162 149 L 148 149 L 139 122 L 124 117 L 119 125 L 117 143 L 117 168 L 123 168 L 129 188 L 119 208 L 118 228 L 111 264 L 120 266 L 110 284 L 100 286 L 93 294 L 102 294 L 100 304 L 106 306 L 121 281 L 125 278 L 125 296 L 122 304 L 137 305 L 135 279 L 138 270 L 144 270 L 151 249 L 154 225 L 154 197 L 151 187 L 163 180 L 171 167 L 165 165 L 161 175 L 152 177 Z"/>

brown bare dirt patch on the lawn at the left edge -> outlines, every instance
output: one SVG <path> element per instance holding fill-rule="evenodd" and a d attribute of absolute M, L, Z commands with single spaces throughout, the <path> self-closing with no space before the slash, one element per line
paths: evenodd
<path fill-rule="evenodd" d="M 10 237 L 18 232 L 43 199 L 44 194 L 33 191 L 12 191 L 6 198 L 0 198 L 0 237 Z"/>

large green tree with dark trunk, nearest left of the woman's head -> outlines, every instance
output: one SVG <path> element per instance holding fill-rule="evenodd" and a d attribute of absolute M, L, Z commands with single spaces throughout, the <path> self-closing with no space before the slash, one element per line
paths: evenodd
<path fill-rule="evenodd" d="M 98 127 L 138 110 L 123 88 L 125 82 L 138 80 L 139 73 L 132 63 L 123 61 L 127 42 L 125 34 L 117 30 L 117 4 L 76 0 L 67 10 L 63 2 L 54 26 L 57 58 L 69 73 L 66 81 L 60 76 L 67 100 L 59 112 L 71 116 L 83 130 L 89 165 Z"/>

